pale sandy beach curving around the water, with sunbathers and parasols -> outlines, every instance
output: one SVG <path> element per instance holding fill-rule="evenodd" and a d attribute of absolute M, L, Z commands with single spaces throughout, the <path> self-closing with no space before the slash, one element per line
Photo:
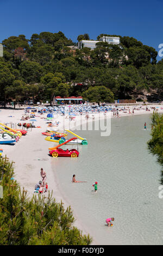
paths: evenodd
<path fill-rule="evenodd" d="M 138 107 L 138 106 L 136 106 Z M 158 113 L 163 113 L 163 103 L 162 105 L 148 105 L 148 108 L 151 111 L 146 111 L 146 106 L 142 105 L 142 108 L 140 110 L 134 110 L 134 114 L 132 113 L 134 106 L 125 106 L 127 113 L 124 113 L 123 111 L 119 112 L 120 117 L 123 118 L 126 116 L 133 116 L 133 115 L 139 115 L 139 114 L 149 114 L 153 112 L 153 109 L 151 107 L 155 107 L 158 109 Z M 162 108 L 162 109 L 161 109 Z M 129 114 L 130 109 L 130 114 Z M 9 127 L 11 127 L 12 124 L 18 124 L 18 123 L 32 123 L 32 121 L 21 121 L 21 117 L 24 115 L 24 109 L 1 109 L 0 112 L 0 122 L 7 124 Z M 64 195 L 60 190 L 60 185 L 57 180 L 57 177 L 54 172 L 54 164 L 52 165 L 52 162 L 54 161 L 53 157 L 50 157 L 48 155 L 48 148 L 53 147 L 53 145 L 57 145 L 57 143 L 52 143 L 45 140 L 46 136 L 41 135 L 41 132 L 46 131 L 47 129 L 50 129 L 47 125 L 47 121 L 42 118 L 46 118 L 47 114 L 40 115 L 38 113 L 35 113 L 35 119 L 37 120 L 34 122 L 35 126 L 40 126 L 40 128 L 32 128 L 28 129 L 28 133 L 26 136 L 22 136 L 20 140 L 15 143 L 15 145 L 1 145 L 1 148 L 3 149 L 3 156 L 7 155 L 10 161 L 14 161 L 14 169 L 15 169 L 15 179 L 20 183 L 21 187 L 26 188 L 28 191 L 28 197 L 32 197 L 34 194 L 34 186 L 39 180 L 41 179 L 40 176 L 40 168 L 42 167 L 43 170 L 47 173 L 47 182 L 48 182 L 48 189 L 49 191 L 53 190 L 53 197 L 57 200 L 57 202 L 64 202 L 65 207 L 67 207 L 68 200 L 66 199 L 66 195 Z M 95 120 L 99 118 L 98 114 L 93 114 L 95 117 Z M 109 113 L 104 113 L 101 115 L 100 118 L 107 118 L 109 117 Z M 113 113 L 111 112 L 111 118 L 113 118 Z M 58 131 L 63 131 L 63 117 L 57 115 L 54 117 L 54 121 L 59 121 L 60 124 L 58 127 L 53 127 L 54 129 Z M 82 116 L 82 122 L 86 122 L 87 119 L 85 118 L 85 115 Z M 89 115 L 88 121 L 92 121 L 92 116 Z M 73 126 L 77 127 L 81 124 L 81 117 L 77 116 L 73 121 Z M 148 124 L 149 126 L 149 124 Z M 13 126 L 12 126 L 13 127 Z M 17 126 L 18 128 L 18 126 Z M 21 127 L 22 128 L 22 127 Z M 22 128 L 23 129 L 23 128 Z M 82 157 L 82 155 L 80 155 Z M 72 177 L 70 177 L 71 182 Z M 71 208 L 73 210 L 73 205 L 71 205 Z M 78 216 L 76 215 L 76 212 L 74 213 L 74 217 L 76 218 L 76 221 L 74 222 L 74 225 L 76 225 L 80 230 L 83 230 L 83 234 L 88 234 L 89 230 L 87 230 L 87 227 L 84 227 L 84 224 L 82 223 L 82 220 L 78 220 Z M 91 234 L 90 234 L 91 235 Z M 93 240 L 93 244 L 98 244 L 98 241 Z"/>

